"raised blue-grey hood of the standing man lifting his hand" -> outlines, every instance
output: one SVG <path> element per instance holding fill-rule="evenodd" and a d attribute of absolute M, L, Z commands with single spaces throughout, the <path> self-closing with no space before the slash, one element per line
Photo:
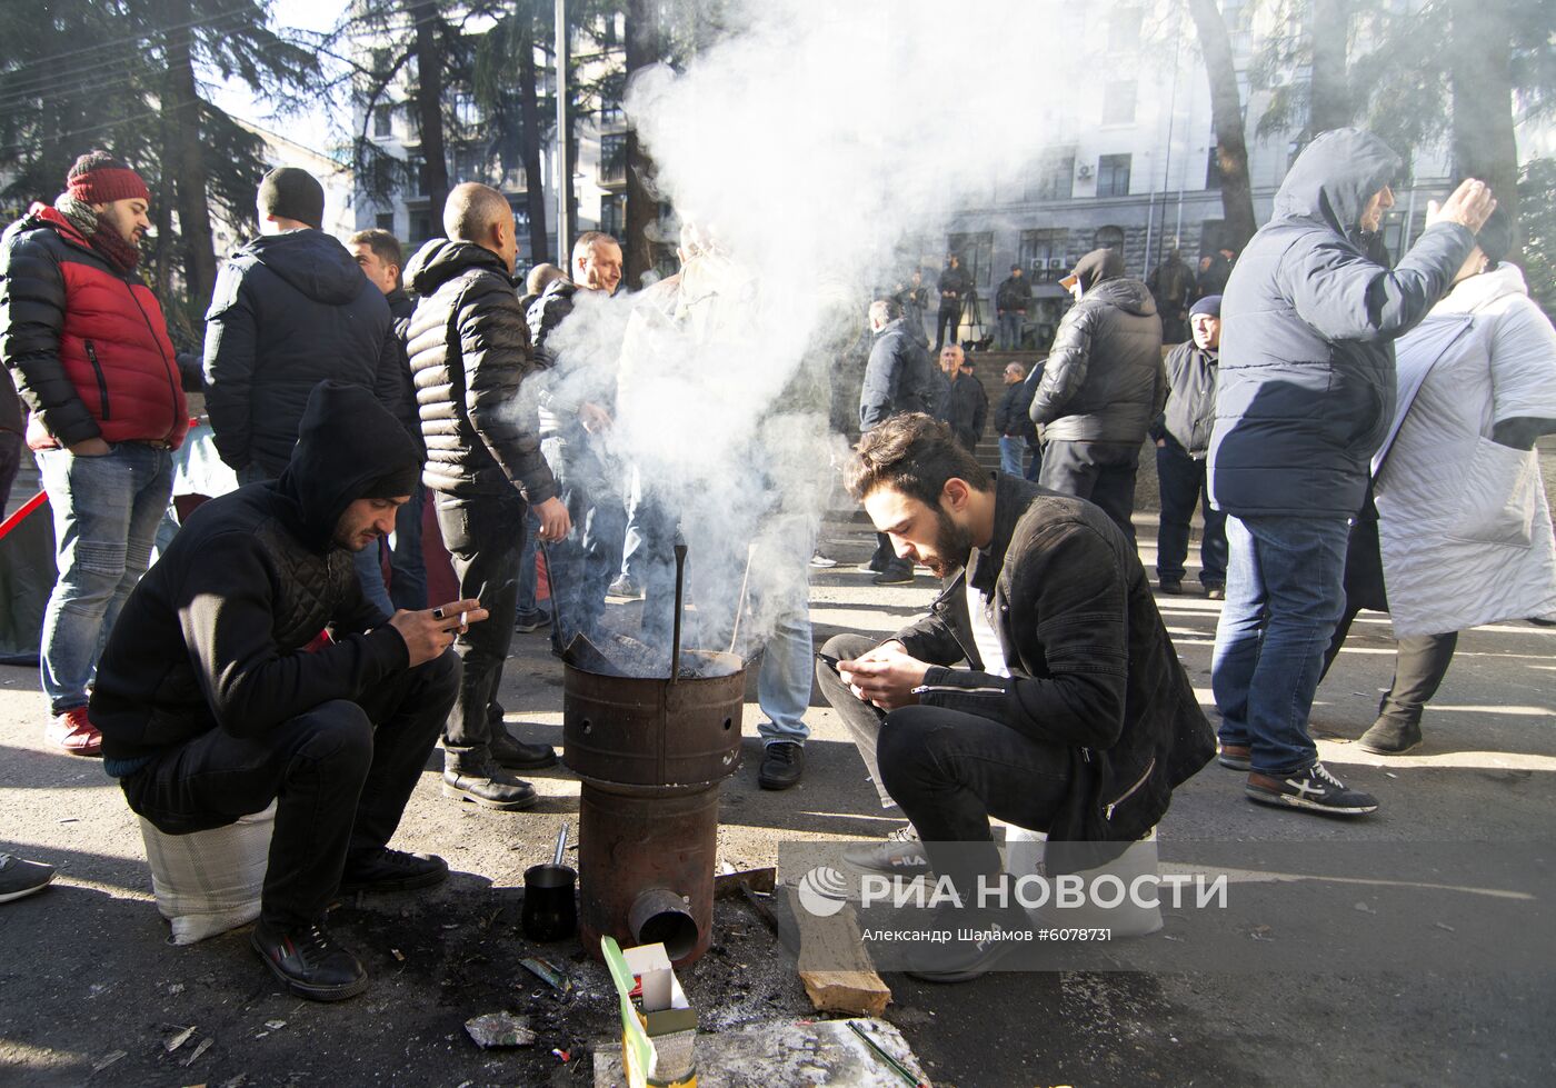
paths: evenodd
<path fill-rule="evenodd" d="M 1368 199 L 1399 177 L 1399 156 L 1371 132 L 1323 132 L 1291 163 L 1274 195 L 1274 216 L 1316 219 L 1352 237 Z"/>

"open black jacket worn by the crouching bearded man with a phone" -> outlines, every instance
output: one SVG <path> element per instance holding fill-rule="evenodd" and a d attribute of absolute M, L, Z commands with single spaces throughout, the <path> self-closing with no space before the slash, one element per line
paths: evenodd
<path fill-rule="evenodd" d="M 1142 837 L 1209 763 L 1215 736 L 1134 545 L 1091 503 L 996 478 L 994 534 L 972 584 L 988 595 L 1010 677 L 983 671 L 966 577 L 951 574 L 929 615 L 895 635 L 934 666 L 920 702 L 1066 749 L 1050 844 Z"/>

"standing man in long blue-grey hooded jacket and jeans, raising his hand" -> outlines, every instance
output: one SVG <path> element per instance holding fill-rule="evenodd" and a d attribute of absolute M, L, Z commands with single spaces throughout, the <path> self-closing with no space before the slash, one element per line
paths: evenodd
<path fill-rule="evenodd" d="M 1449 290 L 1495 201 L 1464 182 L 1393 271 L 1368 237 L 1399 157 L 1360 129 L 1313 140 L 1221 299 L 1211 501 L 1226 512 L 1212 685 L 1221 764 L 1251 800 L 1360 816 L 1377 800 L 1318 761 L 1307 716 L 1344 609 L 1349 521 L 1394 406 L 1394 339 Z"/>

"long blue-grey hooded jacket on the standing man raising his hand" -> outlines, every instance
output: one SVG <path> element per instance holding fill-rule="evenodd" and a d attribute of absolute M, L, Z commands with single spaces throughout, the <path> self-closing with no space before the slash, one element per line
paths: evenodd
<path fill-rule="evenodd" d="M 1351 517 L 1394 414 L 1394 339 L 1427 316 L 1475 235 L 1428 227 L 1393 271 L 1358 233 L 1399 157 L 1324 132 L 1274 198 L 1221 297 L 1211 500 L 1234 517 Z"/>

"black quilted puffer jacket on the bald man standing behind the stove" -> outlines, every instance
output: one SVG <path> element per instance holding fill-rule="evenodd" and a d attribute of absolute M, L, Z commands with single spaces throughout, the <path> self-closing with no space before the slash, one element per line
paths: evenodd
<path fill-rule="evenodd" d="M 503 258 L 434 238 L 405 269 L 422 296 L 411 318 L 411 372 L 426 439 L 423 483 L 448 495 L 555 498 L 540 455 L 529 327 Z"/>

